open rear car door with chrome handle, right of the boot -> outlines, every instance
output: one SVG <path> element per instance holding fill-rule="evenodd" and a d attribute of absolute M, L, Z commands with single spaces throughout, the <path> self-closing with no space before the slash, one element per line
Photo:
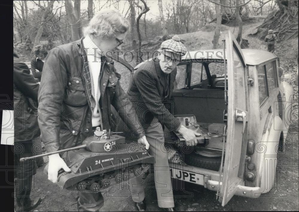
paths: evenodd
<path fill-rule="evenodd" d="M 228 70 L 228 117 L 224 172 L 219 202 L 222 206 L 234 196 L 237 185 L 244 185 L 247 148 L 248 85 L 244 56 L 230 31 L 225 37 Z"/>

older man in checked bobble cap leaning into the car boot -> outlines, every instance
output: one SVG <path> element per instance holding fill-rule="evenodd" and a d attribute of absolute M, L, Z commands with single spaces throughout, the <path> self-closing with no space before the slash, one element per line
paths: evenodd
<path fill-rule="evenodd" d="M 166 211 L 174 211 L 173 192 L 170 180 L 168 154 L 164 146 L 164 126 L 179 132 L 187 145 L 197 145 L 194 133 L 181 125 L 172 113 L 173 83 L 176 79 L 176 66 L 187 49 L 178 36 L 162 42 L 159 56 L 142 64 L 134 73 L 128 90 L 129 99 L 136 104 L 138 121 L 144 127 L 149 153 L 155 156 L 154 172 L 158 206 Z M 164 125 L 164 126 L 163 126 Z M 139 211 L 145 210 L 144 188 L 134 187 L 138 179 L 131 180 L 132 199 Z M 133 194 L 138 195 L 133 195 Z"/>

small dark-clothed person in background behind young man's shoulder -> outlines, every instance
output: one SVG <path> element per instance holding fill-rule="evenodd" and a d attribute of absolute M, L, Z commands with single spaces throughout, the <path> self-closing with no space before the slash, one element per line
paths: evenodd
<path fill-rule="evenodd" d="M 48 52 L 44 45 L 37 45 L 34 47 L 35 57 L 31 60 L 31 71 L 33 77 L 37 78 L 39 82 L 42 77 L 42 68 L 44 67 L 47 54 Z"/>

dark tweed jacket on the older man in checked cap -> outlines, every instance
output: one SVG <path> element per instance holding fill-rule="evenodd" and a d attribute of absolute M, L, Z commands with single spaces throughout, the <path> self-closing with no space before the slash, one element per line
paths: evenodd
<path fill-rule="evenodd" d="M 134 73 L 128 89 L 129 99 L 136 105 L 136 115 L 141 125 L 146 128 L 154 117 L 168 129 L 178 131 L 181 123 L 173 116 L 176 114 L 173 101 L 173 83 L 176 79 L 175 68 L 169 76 L 169 94 L 163 97 L 165 83 L 159 61 L 154 58 L 150 62 L 142 64 Z"/>

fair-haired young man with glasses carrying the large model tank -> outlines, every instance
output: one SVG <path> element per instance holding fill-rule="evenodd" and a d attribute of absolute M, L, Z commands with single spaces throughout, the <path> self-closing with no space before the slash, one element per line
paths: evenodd
<path fill-rule="evenodd" d="M 129 22 L 117 10 L 101 10 L 84 29 L 84 37 L 53 48 L 43 67 L 39 89 L 38 121 L 47 152 L 75 147 L 93 131 L 111 129 L 111 105 L 146 145 L 144 130 L 137 126 L 135 111 L 125 111 L 128 102 L 120 86 L 120 74 L 107 57 L 121 44 Z M 57 182 L 60 169 L 70 168 L 60 155 L 49 155 L 48 179 Z M 98 211 L 104 204 L 99 193 L 79 192 L 78 211 Z"/>

